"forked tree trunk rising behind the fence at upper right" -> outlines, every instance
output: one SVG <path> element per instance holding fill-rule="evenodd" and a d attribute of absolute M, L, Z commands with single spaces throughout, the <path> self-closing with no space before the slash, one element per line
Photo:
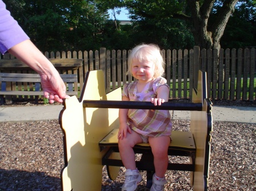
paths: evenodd
<path fill-rule="evenodd" d="M 199 1 L 188 0 L 188 5 L 192 13 L 192 32 L 196 46 L 205 49 L 212 48 L 220 50 L 220 39 L 237 2 L 238 0 L 224 1 L 223 6 L 217 13 L 217 18 L 209 26 L 208 19 L 213 8 L 214 0 L 204 1 L 201 6 Z"/>

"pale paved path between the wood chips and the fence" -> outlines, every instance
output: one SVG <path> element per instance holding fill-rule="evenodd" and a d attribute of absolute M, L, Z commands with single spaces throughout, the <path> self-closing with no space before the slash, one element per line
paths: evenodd
<path fill-rule="evenodd" d="M 63 105 L 0 107 L 0 122 L 57 120 Z M 256 124 L 256 107 L 213 106 L 213 121 Z M 174 111 L 174 119 L 189 120 L 189 111 Z"/>

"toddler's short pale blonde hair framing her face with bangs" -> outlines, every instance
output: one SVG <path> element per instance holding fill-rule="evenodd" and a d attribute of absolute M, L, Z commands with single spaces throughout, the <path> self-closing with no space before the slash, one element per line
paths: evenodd
<path fill-rule="evenodd" d="M 151 61 L 155 65 L 154 77 L 162 77 L 164 74 L 164 61 L 160 53 L 160 48 L 155 44 L 141 44 L 135 46 L 131 50 L 128 56 L 128 71 L 127 74 L 131 74 L 131 65 L 134 60 L 142 61 Z"/>

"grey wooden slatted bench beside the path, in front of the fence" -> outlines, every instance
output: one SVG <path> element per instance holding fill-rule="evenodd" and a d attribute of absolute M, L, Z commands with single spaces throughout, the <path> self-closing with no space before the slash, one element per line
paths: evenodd
<path fill-rule="evenodd" d="M 77 95 L 77 91 L 73 91 L 73 83 L 77 82 L 77 74 L 61 74 L 60 76 L 67 83 L 67 94 Z M 35 96 L 36 104 L 38 104 L 38 97 L 44 95 L 39 74 L 0 73 L 0 82 L 1 105 L 5 103 L 4 95 Z M 16 83 L 21 83 L 19 90 L 16 90 Z"/>

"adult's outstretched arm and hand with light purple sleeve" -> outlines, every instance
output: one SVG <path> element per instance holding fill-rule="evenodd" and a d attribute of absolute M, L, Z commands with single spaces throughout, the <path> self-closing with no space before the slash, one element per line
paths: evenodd
<path fill-rule="evenodd" d="M 0 52 L 4 54 L 7 50 L 39 73 L 44 96 L 49 99 L 49 103 L 61 103 L 69 97 L 65 94 L 65 84 L 55 67 L 29 40 L 0 0 Z"/>

